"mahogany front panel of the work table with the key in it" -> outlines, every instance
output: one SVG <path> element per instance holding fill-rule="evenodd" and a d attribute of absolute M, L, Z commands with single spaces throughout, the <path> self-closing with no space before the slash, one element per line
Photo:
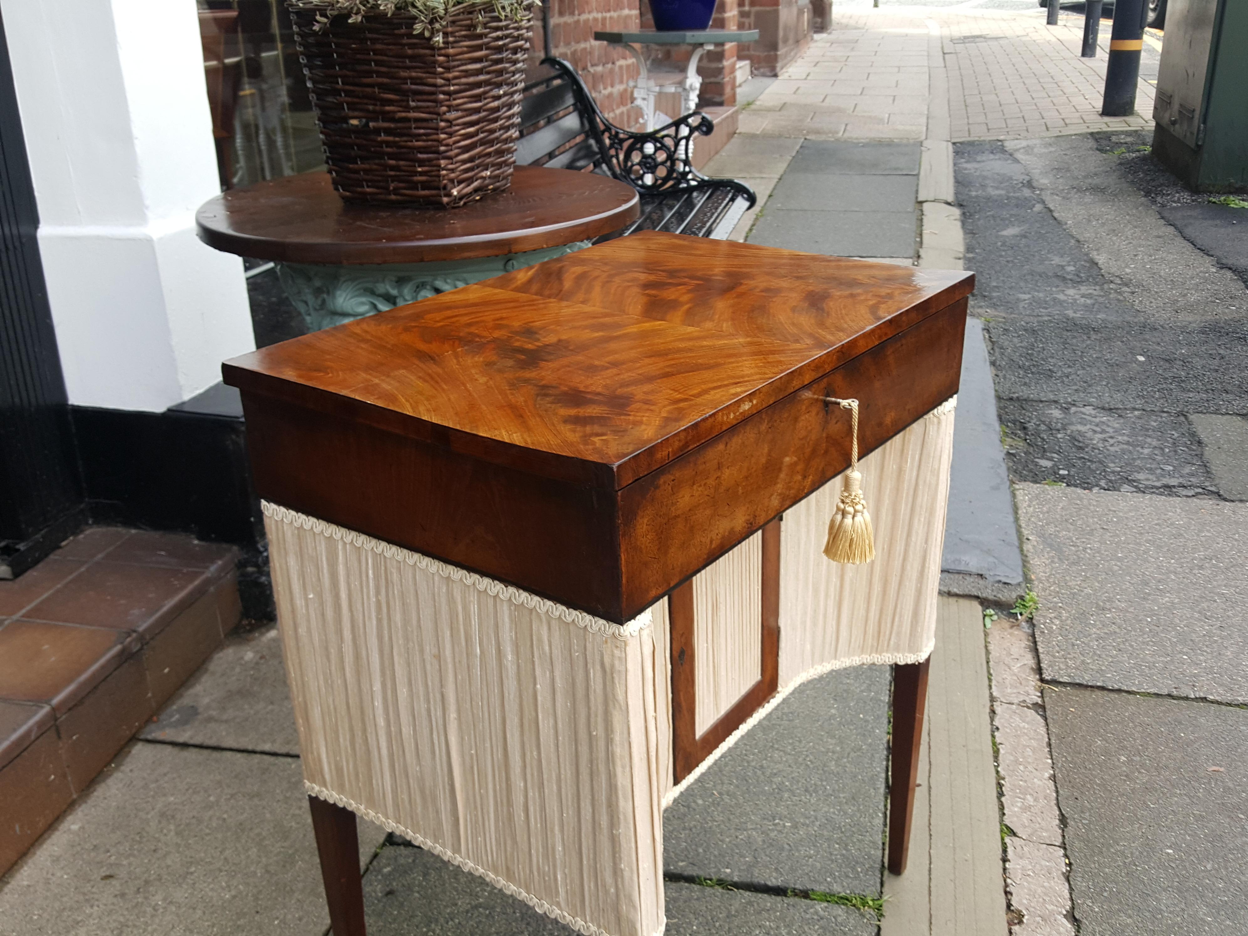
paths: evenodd
<path fill-rule="evenodd" d="M 860 399 L 867 454 L 957 393 L 965 327 L 960 300 L 623 488 L 622 619 L 849 467 L 849 413 L 819 397 Z"/>

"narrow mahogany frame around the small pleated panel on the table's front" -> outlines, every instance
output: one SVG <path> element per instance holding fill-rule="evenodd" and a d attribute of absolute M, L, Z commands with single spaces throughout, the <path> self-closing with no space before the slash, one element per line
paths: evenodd
<path fill-rule="evenodd" d="M 676 588 L 668 602 L 671 629 L 671 753 L 673 771 L 679 784 L 775 695 L 780 685 L 780 520 L 763 528 L 763 671 L 759 681 L 701 735 L 698 734 L 693 580 Z"/>

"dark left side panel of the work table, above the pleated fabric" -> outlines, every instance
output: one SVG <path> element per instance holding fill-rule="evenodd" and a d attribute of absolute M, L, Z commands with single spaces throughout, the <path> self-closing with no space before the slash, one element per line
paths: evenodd
<path fill-rule="evenodd" d="M 266 500 L 622 622 L 614 492 L 243 394 Z"/>

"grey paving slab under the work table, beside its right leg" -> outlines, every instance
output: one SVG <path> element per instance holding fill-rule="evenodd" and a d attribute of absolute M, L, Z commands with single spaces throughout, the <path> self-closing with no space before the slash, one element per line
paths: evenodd
<path fill-rule="evenodd" d="M 890 676 L 797 688 L 668 807 L 666 870 L 879 896 Z"/>

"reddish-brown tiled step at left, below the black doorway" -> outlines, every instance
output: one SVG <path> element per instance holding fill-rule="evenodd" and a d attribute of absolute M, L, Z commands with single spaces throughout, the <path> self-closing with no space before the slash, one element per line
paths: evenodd
<path fill-rule="evenodd" d="M 96 527 L 0 582 L 0 874 L 238 623 L 237 558 Z"/>

